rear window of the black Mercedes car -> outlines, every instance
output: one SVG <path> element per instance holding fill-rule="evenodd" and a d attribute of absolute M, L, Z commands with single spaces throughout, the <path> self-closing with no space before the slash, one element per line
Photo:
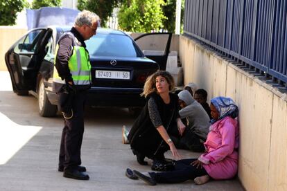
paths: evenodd
<path fill-rule="evenodd" d="M 97 33 L 85 43 L 89 55 L 137 57 L 132 39 L 125 35 Z"/>

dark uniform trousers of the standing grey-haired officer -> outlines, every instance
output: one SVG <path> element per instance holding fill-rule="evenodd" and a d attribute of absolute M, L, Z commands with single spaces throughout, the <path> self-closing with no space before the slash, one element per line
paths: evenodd
<path fill-rule="evenodd" d="M 87 91 L 78 91 L 72 101 L 73 117 L 64 119 L 60 145 L 59 167 L 74 170 L 81 164 L 80 148 L 84 134 L 84 106 Z"/>

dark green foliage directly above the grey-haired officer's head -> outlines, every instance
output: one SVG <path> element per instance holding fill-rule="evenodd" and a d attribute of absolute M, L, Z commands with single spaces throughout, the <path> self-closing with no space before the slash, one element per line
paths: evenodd
<path fill-rule="evenodd" d="M 112 16 L 112 10 L 119 6 L 123 0 L 78 0 L 78 10 L 95 12 L 101 18 L 102 26 L 105 26 L 107 17 Z"/>

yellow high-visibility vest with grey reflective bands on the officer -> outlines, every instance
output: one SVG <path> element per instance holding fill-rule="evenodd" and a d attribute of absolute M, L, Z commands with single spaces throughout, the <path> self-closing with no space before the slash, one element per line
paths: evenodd
<path fill-rule="evenodd" d="M 89 85 L 91 84 L 91 63 L 89 62 L 89 54 L 85 50 L 83 46 L 78 46 L 78 39 L 71 32 L 64 33 L 62 37 L 65 35 L 71 35 L 73 37 L 74 46 L 73 53 L 69 59 L 69 69 L 71 76 L 73 78 L 73 84 L 75 85 Z M 60 37 L 61 39 L 61 37 Z M 59 39 L 59 41 L 60 41 Z M 55 57 L 57 57 L 59 49 L 59 44 L 57 44 L 55 49 Z M 56 60 L 56 59 L 55 59 Z M 59 84 L 65 84 L 65 81 L 60 78 L 57 69 L 55 68 L 55 60 L 54 60 L 54 71 L 53 71 L 53 82 Z"/>

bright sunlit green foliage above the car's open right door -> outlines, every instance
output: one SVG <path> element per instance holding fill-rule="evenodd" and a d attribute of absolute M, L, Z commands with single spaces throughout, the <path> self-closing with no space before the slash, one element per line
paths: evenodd
<path fill-rule="evenodd" d="M 141 33 L 159 31 L 166 19 L 162 11 L 164 4 L 164 0 L 123 1 L 118 15 L 120 28 Z"/>

